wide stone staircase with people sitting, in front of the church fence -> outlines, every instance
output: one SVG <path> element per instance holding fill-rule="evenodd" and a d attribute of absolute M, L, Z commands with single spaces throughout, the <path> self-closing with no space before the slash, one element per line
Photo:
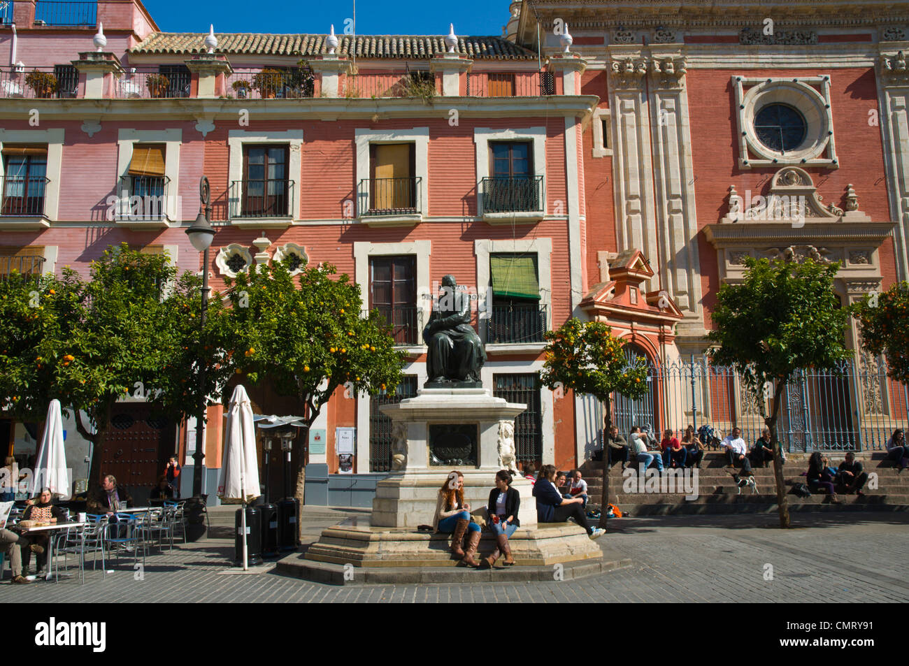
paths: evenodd
<path fill-rule="evenodd" d="M 832 452 L 828 457 L 834 467 L 843 461 L 842 452 Z M 886 452 L 859 452 L 855 457 L 862 461 L 864 471 L 870 477 L 864 486 L 864 497 L 840 494 L 842 503 L 834 504 L 826 494 L 813 492 L 811 497 L 801 498 L 790 492 L 793 483 L 805 482 L 805 477 L 799 474 L 808 469 L 808 455 L 787 454 L 783 469 L 790 511 L 909 511 L 909 471 L 898 472 L 894 462 L 885 460 Z M 747 487 L 742 488 L 739 494 L 731 474 L 738 470 L 730 470 L 725 464 L 723 454 L 706 452 L 701 469 L 697 470 L 696 493 L 692 492 L 696 497 L 687 500 L 685 494 L 693 489 L 693 478 L 687 480 L 687 485 L 683 485 L 682 479 L 674 479 L 673 488 L 667 487 L 670 482 L 667 475 L 665 486 L 655 488 L 653 482 L 649 486 L 641 482 L 643 488 L 635 488 L 639 485 L 637 474 L 633 473 L 630 478 L 623 477 L 621 464 L 615 464 L 609 474 L 610 502 L 630 516 L 776 511 L 772 465 L 754 468 L 757 494 Z M 602 462 L 585 462 L 581 473 L 587 482 L 588 509 L 599 508 L 603 488 Z M 873 473 L 877 474 L 876 488 L 871 487 L 874 486 Z"/>

